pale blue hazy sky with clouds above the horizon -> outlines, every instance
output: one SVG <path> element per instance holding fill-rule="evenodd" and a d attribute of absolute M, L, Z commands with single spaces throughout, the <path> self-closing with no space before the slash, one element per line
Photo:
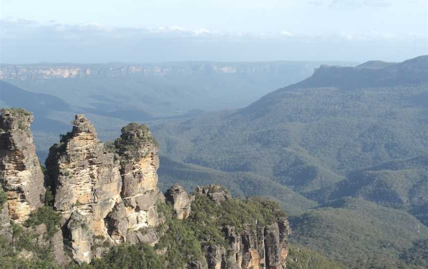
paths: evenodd
<path fill-rule="evenodd" d="M 428 0 L 0 0 L 0 63 L 404 61 Z"/>

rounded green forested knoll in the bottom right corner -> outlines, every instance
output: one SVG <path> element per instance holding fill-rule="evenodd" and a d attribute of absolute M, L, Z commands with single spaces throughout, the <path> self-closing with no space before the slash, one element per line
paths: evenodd
<path fill-rule="evenodd" d="M 400 268 L 392 266 L 404 263 L 400 253 L 428 238 L 428 227 L 410 214 L 362 199 L 336 200 L 289 220 L 291 242 L 349 268 L 379 268 L 373 263 L 386 265 L 385 261 L 391 261 L 386 268 Z"/>

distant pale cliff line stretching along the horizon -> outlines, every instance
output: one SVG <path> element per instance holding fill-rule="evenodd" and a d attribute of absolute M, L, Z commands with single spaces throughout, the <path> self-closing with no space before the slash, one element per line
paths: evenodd
<path fill-rule="evenodd" d="M 111 63 L 111 64 L 28 64 L 0 65 L 0 79 L 49 79 L 79 77 L 121 77 L 126 75 L 194 75 L 258 72 L 287 72 L 294 65 L 313 68 L 321 64 L 354 66 L 349 62 L 176 62 L 176 63 Z"/>

